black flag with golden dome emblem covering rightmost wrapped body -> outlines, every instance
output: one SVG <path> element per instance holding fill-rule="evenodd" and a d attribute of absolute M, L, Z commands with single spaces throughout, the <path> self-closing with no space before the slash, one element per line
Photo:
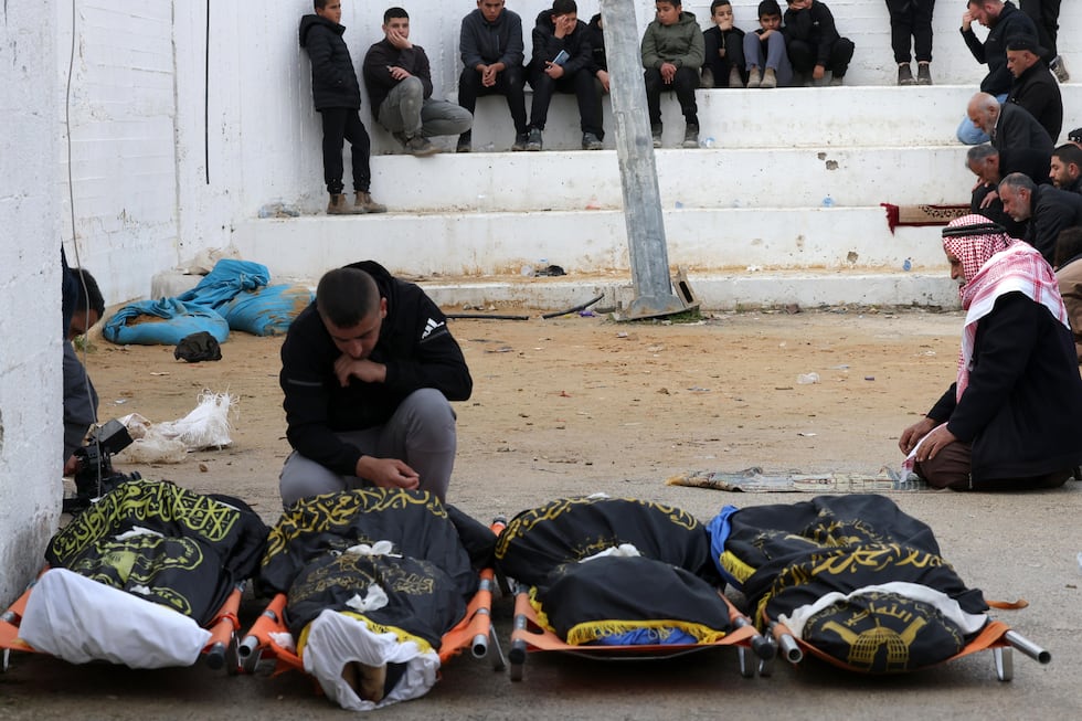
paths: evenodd
<path fill-rule="evenodd" d="M 756 623 L 798 619 L 804 640 L 849 668 L 936 664 L 986 622 L 984 595 L 940 555 L 931 528 L 884 496 L 746 508 L 729 515 L 726 532 L 715 561 Z"/>

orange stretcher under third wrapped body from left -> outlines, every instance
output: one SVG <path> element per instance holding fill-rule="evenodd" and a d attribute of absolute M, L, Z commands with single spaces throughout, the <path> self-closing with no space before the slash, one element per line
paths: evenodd
<path fill-rule="evenodd" d="M 515 627 L 508 651 L 512 681 L 522 680 L 527 654 L 534 651 L 562 651 L 574 656 L 600 660 L 655 660 L 685 656 L 710 648 L 732 646 L 736 649 L 740 674 L 752 678 L 756 672 L 768 676 L 776 654 L 773 640 L 760 634 L 747 616 L 740 613 L 722 593 L 718 595 L 729 607 L 733 630 L 721 640 L 711 644 L 639 644 L 634 646 L 574 646 L 564 643 L 556 634 L 544 628 L 530 603 L 530 589 L 511 581 L 515 590 Z M 754 657 L 754 658 L 753 658 Z"/>

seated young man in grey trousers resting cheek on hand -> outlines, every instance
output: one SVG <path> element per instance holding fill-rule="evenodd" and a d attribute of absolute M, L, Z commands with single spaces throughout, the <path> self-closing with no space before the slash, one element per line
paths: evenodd
<path fill-rule="evenodd" d="M 428 56 L 410 42 L 410 15 L 402 8 L 383 13 L 383 40 L 369 47 L 363 73 L 376 121 L 412 155 L 438 152 L 428 138 L 460 135 L 474 123 L 469 110 L 432 97 Z"/>

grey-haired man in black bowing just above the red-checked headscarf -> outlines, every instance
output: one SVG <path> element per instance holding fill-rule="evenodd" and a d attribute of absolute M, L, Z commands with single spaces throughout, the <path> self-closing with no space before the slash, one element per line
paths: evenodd
<path fill-rule="evenodd" d="M 1038 185 L 1015 172 L 999 183 L 1004 210 L 1016 221 L 1029 221 L 1022 240 L 1036 247 L 1048 261 L 1056 261 L 1056 241 L 1060 231 L 1082 226 L 1082 195 L 1051 185 Z"/>

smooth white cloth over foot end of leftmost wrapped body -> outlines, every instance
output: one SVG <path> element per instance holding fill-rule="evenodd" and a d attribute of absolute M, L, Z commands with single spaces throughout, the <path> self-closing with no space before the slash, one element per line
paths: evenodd
<path fill-rule="evenodd" d="M 19 637 L 71 664 L 192 666 L 211 633 L 192 618 L 66 569 L 50 569 L 26 602 Z"/>

